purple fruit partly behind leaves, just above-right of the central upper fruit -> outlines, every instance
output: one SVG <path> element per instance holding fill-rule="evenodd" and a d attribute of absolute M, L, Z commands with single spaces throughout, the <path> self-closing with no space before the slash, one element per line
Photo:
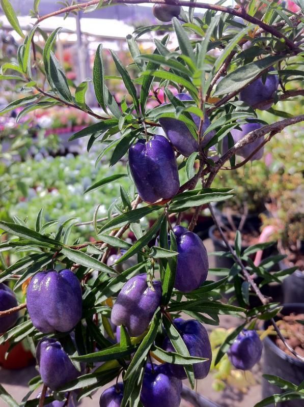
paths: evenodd
<path fill-rule="evenodd" d="M 175 95 L 175 97 L 181 101 L 189 101 L 193 100 L 191 96 L 185 93 L 179 93 Z M 194 120 L 197 128 L 200 126 L 201 119 L 198 115 L 191 113 L 191 117 Z M 188 157 L 195 151 L 199 151 L 199 143 L 198 141 L 192 136 L 190 131 L 188 130 L 187 126 L 177 119 L 171 118 L 160 118 L 159 124 L 161 125 L 163 131 L 172 142 L 173 146 L 185 157 Z M 202 133 L 206 131 L 207 127 L 211 124 L 210 120 L 208 119 L 207 115 L 205 114 L 204 124 L 202 128 Z M 211 138 L 215 135 L 215 131 L 211 131 L 206 134 L 202 140 L 202 147 L 205 147 L 207 143 L 211 140 Z"/>

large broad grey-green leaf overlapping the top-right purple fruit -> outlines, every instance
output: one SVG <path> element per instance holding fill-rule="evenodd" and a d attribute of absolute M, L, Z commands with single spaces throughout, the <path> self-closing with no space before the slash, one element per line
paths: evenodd
<path fill-rule="evenodd" d="M 284 59 L 284 56 L 266 56 L 237 68 L 218 82 L 213 96 L 235 92 L 252 82 L 262 71 Z"/>

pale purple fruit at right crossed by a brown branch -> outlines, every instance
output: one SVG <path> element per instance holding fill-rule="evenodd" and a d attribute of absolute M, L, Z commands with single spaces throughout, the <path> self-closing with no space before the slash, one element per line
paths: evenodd
<path fill-rule="evenodd" d="M 261 123 L 246 123 L 240 126 L 241 130 L 233 129 L 231 130 L 231 135 L 233 137 L 234 143 L 237 141 L 241 140 L 243 137 L 245 137 L 246 134 L 260 129 L 263 127 Z M 241 156 L 243 158 L 247 158 L 248 156 L 251 155 L 251 153 L 262 144 L 264 141 L 263 137 L 258 138 L 257 140 L 251 142 L 250 144 L 247 144 L 247 146 L 242 147 L 239 149 L 236 153 L 237 156 Z M 228 136 L 226 136 L 223 140 L 223 154 L 225 154 L 228 151 Z M 264 154 L 264 147 L 261 147 L 260 150 L 251 157 L 251 161 L 254 160 L 260 160 L 263 157 Z"/>

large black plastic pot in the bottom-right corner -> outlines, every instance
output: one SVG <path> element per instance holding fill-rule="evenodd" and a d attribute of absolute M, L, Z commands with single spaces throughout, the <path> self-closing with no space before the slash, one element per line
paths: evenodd
<path fill-rule="evenodd" d="M 291 313 L 304 313 L 304 304 L 285 304 L 281 313 L 283 315 L 290 315 Z M 275 319 L 278 320 L 279 318 Z M 266 321 L 264 323 L 264 329 L 266 330 L 269 325 L 270 321 Z M 295 385 L 299 385 L 304 377 L 304 362 L 287 355 L 285 352 L 281 351 L 281 349 L 271 340 L 270 337 L 266 337 L 264 339 L 263 374 L 280 376 Z M 263 398 L 281 393 L 284 393 L 284 390 L 277 386 L 271 385 L 269 382 L 263 379 Z M 271 404 L 271 407 L 274 407 L 274 404 Z M 278 403 L 277 407 L 303 407 L 303 400 L 284 401 Z"/>

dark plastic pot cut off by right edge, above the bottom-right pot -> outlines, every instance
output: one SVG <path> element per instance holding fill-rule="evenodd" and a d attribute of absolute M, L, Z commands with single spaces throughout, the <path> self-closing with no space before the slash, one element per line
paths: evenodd
<path fill-rule="evenodd" d="M 284 261 L 280 261 L 280 269 L 287 269 Z M 296 270 L 283 281 L 284 303 L 304 303 L 304 272 Z M 303 403 L 304 404 L 304 403 Z"/>

